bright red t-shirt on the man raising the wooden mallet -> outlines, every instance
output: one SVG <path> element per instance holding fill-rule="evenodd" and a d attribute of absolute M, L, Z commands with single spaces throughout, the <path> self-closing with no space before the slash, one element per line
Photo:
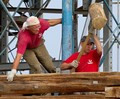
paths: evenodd
<path fill-rule="evenodd" d="M 72 54 L 64 62 L 70 63 L 77 59 L 79 52 Z M 79 65 L 76 68 L 76 72 L 98 72 L 98 65 L 101 55 L 97 53 L 97 50 L 91 50 L 88 54 L 82 55 L 79 61 Z"/>

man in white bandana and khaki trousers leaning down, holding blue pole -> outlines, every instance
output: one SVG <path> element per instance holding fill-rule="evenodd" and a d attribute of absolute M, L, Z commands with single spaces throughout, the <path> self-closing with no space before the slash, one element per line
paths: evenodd
<path fill-rule="evenodd" d="M 17 54 L 12 65 L 12 70 L 7 75 L 8 81 L 13 81 L 17 67 L 23 56 L 31 68 L 31 73 L 42 73 L 41 65 L 48 72 L 56 71 L 44 45 L 43 34 L 50 26 L 61 23 L 61 19 L 38 19 L 35 16 L 27 18 L 18 33 Z"/>

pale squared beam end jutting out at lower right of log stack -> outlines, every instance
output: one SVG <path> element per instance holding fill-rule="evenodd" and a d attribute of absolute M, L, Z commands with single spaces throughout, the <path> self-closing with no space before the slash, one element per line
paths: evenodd
<path fill-rule="evenodd" d="M 105 87 L 105 97 L 120 98 L 120 86 L 117 86 L 117 87 Z"/>

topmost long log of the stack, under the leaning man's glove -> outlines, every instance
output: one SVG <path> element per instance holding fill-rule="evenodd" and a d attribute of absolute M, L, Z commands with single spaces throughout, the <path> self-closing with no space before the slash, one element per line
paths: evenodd
<path fill-rule="evenodd" d="M 50 73 L 50 74 L 28 74 L 28 75 L 17 75 L 15 77 L 15 81 L 38 81 L 38 80 L 46 80 L 46 79 L 54 79 L 53 81 L 63 81 L 63 80 L 92 80 L 96 81 L 101 84 L 120 84 L 120 73 L 119 72 L 99 72 L 99 73 L 72 73 L 72 74 L 57 74 L 57 73 Z M 51 79 L 51 80 L 52 80 Z M 0 81 L 6 81 L 6 75 L 0 75 Z"/>

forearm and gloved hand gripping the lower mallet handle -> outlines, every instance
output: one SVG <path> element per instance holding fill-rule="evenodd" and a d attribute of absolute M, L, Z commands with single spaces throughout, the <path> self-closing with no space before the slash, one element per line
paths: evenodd
<path fill-rule="evenodd" d="M 72 68 L 77 68 L 78 67 L 78 61 L 73 60 L 71 63 L 62 63 L 60 68 L 61 70 L 66 70 L 66 69 L 72 69 Z"/>

